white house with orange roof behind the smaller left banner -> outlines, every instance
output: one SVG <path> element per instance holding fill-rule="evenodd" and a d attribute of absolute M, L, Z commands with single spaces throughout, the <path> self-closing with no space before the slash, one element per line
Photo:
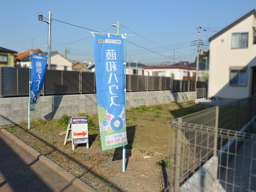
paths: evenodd
<path fill-rule="evenodd" d="M 47 55 L 47 52 L 42 52 L 40 49 L 30 50 L 33 53 L 41 53 Z M 18 52 L 16 54 L 16 66 L 29 67 L 29 50 Z M 51 70 L 66 70 L 72 71 L 72 61 L 65 58 L 57 51 L 51 52 Z"/>

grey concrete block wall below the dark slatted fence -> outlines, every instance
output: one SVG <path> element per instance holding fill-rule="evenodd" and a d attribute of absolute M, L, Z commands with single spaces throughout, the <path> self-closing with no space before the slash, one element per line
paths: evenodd
<path fill-rule="evenodd" d="M 141 105 L 167 104 L 196 99 L 196 92 L 149 91 L 127 92 L 127 108 Z M 41 96 L 32 119 L 77 116 L 81 112 L 97 113 L 96 94 Z M 28 97 L 0 98 L 0 125 L 28 120 Z"/>

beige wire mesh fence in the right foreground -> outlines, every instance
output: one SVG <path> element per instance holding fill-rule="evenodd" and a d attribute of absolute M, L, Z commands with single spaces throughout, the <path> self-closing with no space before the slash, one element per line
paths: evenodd
<path fill-rule="evenodd" d="M 170 121 L 165 191 L 256 191 L 256 134 L 238 131 L 250 130 L 255 104 L 252 96 Z"/>

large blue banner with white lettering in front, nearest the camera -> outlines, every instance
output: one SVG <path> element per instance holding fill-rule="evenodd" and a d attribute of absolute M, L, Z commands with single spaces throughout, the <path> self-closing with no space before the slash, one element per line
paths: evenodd
<path fill-rule="evenodd" d="M 124 39 L 93 37 L 98 117 L 102 150 L 128 144 L 124 106 Z"/>

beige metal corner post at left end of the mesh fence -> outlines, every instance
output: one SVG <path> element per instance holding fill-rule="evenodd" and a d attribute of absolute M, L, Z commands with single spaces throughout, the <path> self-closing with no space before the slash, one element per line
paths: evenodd
<path fill-rule="evenodd" d="M 178 118 L 178 128 L 176 136 L 176 160 L 175 160 L 175 179 L 174 179 L 174 189 L 175 191 L 180 191 L 180 156 L 181 156 L 181 128 L 182 128 L 182 118 Z"/>

